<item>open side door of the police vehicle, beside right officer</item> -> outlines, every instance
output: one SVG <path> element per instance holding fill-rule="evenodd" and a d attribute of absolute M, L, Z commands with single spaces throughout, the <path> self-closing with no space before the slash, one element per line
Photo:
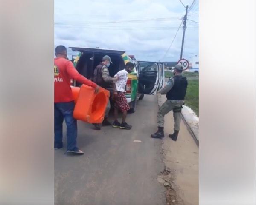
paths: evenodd
<path fill-rule="evenodd" d="M 157 62 L 138 61 L 139 92 L 156 94 L 164 86 L 164 64 Z"/>

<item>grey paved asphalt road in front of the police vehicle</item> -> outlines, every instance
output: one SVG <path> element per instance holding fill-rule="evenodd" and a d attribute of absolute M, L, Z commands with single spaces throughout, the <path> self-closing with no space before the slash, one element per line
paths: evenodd
<path fill-rule="evenodd" d="M 162 141 L 150 138 L 156 131 L 156 114 L 156 96 L 145 96 L 136 113 L 128 115 L 130 131 L 96 131 L 79 122 L 78 143 L 85 154 L 55 151 L 55 204 L 164 205 L 165 190 L 157 181 L 164 169 Z"/>

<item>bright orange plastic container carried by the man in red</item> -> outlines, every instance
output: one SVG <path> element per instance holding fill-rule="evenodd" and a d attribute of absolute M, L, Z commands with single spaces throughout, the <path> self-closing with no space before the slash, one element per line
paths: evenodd
<path fill-rule="evenodd" d="M 99 93 L 96 94 L 94 89 L 87 85 L 82 85 L 81 88 L 71 87 L 71 89 L 76 103 L 74 118 L 88 123 L 102 123 L 110 96 L 109 91 L 100 88 Z"/>

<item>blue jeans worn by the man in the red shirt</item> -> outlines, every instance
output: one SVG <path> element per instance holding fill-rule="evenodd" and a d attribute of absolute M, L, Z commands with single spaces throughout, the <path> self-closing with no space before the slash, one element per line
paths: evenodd
<path fill-rule="evenodd" d="M 75 103 L 54 103 L 54 148 L 62 148 L 62 124 L 67 125 L 67 150 L 78 151 L 76 146 L 77 123 L 73 117 Z"/>

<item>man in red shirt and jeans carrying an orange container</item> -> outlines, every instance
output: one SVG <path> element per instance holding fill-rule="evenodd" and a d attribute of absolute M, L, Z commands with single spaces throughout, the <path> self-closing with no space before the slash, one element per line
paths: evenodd
<path fill-rule="evenodd" d="M 74 68 L 71 61 L 67 60 L 67 48 L 57 46 L 54 59 L 54 148 L 60 149 L 62 143 L 63 120 L 67 124 L 67 153 L 84 154 L 76 146 L 77 122 L 73 118 L 75 103 L 70 88 L 70 79 L 95 88 L 99 92 L 99 86 L 83 77 Z"/>

